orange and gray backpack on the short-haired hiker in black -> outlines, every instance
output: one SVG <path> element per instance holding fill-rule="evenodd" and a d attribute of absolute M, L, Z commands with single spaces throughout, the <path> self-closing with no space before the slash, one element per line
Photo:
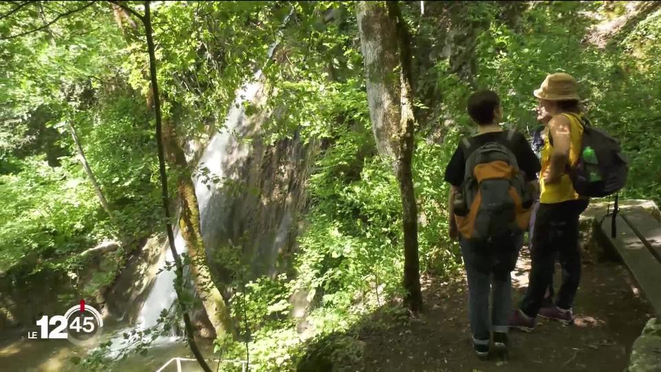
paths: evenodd
<path fill-rule="evenodd" d="M 507 132 L 507 141 L 514 138 Z M 518 168 L 516 156 L 495 141 L 474 148 L 472 138 L 463 138 L 465 175 L 454 201 L 454 218 L 463 238 L 490 242 L 527 230 L 532 193 Z"/>

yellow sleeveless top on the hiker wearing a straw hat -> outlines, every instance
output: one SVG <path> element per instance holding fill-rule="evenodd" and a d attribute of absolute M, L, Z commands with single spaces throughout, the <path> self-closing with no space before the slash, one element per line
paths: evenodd
<path fill-rule="evenodd" d="M 580 125 L 578 119 L 574 114 L 562 114 L 569 119 L 569 165 L 574 167 L 578 161 L 578 156 L 580 152 L 580 147 L 583 144 L 583 126 Z M 544 174 L 546 169 L 551 165 L 551 154 L 553 152 L 553 146 L 549 141 L 548 128 L 545 129 L 545 140 L 544 147 L 541 151 L 541 163 L 542 171 L 541 175 Z M 562 203 L 567 200 L 576 200 L 578 199 L 578 194 L 574 186 L 571 184 L 571 178 L 569 174 L 563 172 L 560 176 L 560 180 L 557 183 L 552 183 L 550 185 L 545 185 L 544 177 L 541 176 L 539 180 L 540 187 L 540 196 L 539 203 L 543 204 L 555 204 Z"/>

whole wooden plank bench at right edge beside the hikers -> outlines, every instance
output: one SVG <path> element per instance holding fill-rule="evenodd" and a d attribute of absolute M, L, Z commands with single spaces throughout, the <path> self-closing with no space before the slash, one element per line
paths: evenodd
<path fill-rule="evenodd" d="M 661 316 L 661 223 L 642 207 L 622 209 L 601 221 L 602 233 L 622 258 L 638 286 Z"/>

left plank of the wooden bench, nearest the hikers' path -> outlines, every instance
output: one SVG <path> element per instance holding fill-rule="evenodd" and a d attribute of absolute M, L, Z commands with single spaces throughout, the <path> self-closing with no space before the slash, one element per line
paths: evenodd
<path fill-rule="evenodd" d="M 652 256 L 622 216 L 616 218 L 616 224 L 617 236 L 614 239 L 611 238 L 610 218 L 604 220 L 601 229 L 622 256 L 622 260 L 636 278 L 638 286 L 645 293 L 657 315 L 661 316 L 661 264 Z"/>

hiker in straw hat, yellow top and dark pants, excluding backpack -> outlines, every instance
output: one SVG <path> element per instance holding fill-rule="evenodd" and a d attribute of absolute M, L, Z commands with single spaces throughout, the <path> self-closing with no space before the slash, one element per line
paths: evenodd
<path fill-rule="evenodd" d="M 531 253 L 529 285 L 518 309 L 512 311 L 510 327 L 532 331 L 536 317 L 572 324 L 571 307 L 580 280 L 578 216 L 588 200 L 580 198 L 567 171 L 576 165 L 583 139 L 583 113 L 576 79 L 569 74 L 549 74 L 534 90 L 538 110 L 552 116 L 545 127 L 541 149 L 540 205 L 537 211 Z M 563 268 L 563 282 L 555 303 L 543 307 L 552 282 L 556 254 Z"/>

